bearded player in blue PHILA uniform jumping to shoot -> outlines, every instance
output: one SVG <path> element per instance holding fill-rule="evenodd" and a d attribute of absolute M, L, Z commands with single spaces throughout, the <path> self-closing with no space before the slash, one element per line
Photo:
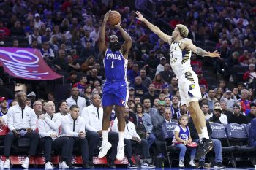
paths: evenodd
<path fill-rule="evenodd" d="M 110 16 L 110 12 L 107 12 L 104 16 L 102 27 L 99 33 L 98 47 L 101 54 L 105 54 L 103 63 L 105 66 L 106 82 L 102 93 L 102 105 L 103 105 L 103 121 L 102 121 L 102 147 L 99 151 L 99 158 L 104 157 L 111 144 L 108 142 L 108 128 L 110 126 L 110 115 L 113 106 L 116 107 L 116 117 L 118 118 L 118 137 L 119 142 L 117 146 L 116 159 L 123 160 L 124 158 L 124 112 L 127 105 L 128 98 L 128 83 L 127 83 L 127 63 L 128 52 L 132 47 L 132 39 L 121 28 L 120 23 L 115 27 L 121 32 L 123 36 L 124 44 L 120 45 L 118 37 L 116 35 L 110 36 L 109 47 L 105 45 L 105 27 Z"/>

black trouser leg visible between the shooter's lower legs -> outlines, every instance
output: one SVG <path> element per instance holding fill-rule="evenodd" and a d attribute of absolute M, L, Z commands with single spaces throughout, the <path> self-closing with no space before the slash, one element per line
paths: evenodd
<path fill-rule="evenodd" d="M 119 136 L 118 133 L 110 131 L 108 133 L 108 141 L 112 144 L 112 147 L 107 153 L 107 158 L 111 160 L 116 160 L 116 154 L 117 154 L 117 144 L 119 142 Z"/>

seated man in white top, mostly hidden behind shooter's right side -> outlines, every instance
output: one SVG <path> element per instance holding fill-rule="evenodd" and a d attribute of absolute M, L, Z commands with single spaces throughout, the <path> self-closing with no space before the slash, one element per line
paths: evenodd
<path fill-rule="evenodd" d="M 128 168 L 136 168 L 135 164 L 132 162 L 132 147 L 140 148 L 141 155 L 141 168 L 155 168 L 154 165 L 148 163 L 146 158 L 150 158 L 148 141 L 146 139 L 140 139 L 140 136 L 136 132 L 135 125 L 129 121 L 129 108 L 125 110 L 125 122 L 126 126 L 124 129 L 124 144 L 125 144 L 125 153 L 128 159 Z M 112 125 L 112 131 L 118 132 L 118 119 L 114 120 Z"/>

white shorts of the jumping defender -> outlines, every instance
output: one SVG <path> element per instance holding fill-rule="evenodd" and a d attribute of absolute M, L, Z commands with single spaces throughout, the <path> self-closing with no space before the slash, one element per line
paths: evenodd
<path fill-rule="evenodd" d="M 199 101 L 202 98 L 198 77 L 194 71 L 187 71 L 178 79 L 178 88 L 181 96 L 181 104 L 189 106 L 191 101 Z"/>

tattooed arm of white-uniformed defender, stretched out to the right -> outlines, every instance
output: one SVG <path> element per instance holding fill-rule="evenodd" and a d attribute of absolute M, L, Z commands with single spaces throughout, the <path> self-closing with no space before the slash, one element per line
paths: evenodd
<path fill-rule="evenodd" d="M 202 48 L 193 45 L 193 42 L 191 39 L 187 39 L 182 43 L 184 43 L 184 48 L 186 48 L 187 50 L 192 50 L 192 52 L 196 53 L 197 55 L 208 56 L 208 57 L 220 57 L 220 53 L 217 50 L 212 53 L 207 52 L 206 50 L 203 50 Z"/>

